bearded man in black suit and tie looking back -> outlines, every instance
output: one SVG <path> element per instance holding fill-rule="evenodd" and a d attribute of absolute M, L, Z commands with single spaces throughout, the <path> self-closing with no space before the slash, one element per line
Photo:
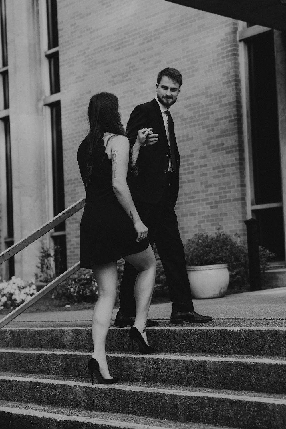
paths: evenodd
<path fill-rule="evenodd" d="M 179 191 L 180 155 L 174 123 L 169 112 L 177 100 L 182 75 L 177 69 L 166 68 L 157 77 L 157 96 L 154 100 L 136 106 L 127 123 L 127 137 L 138 153 L 138 176 L 130 190 L 141 220 L 148 227 L 148 239 L 155 243 L 166 275 L 172 301 L 171 323 L 200 323 L 213 320 L 194 311 L 187 275 L 184 245 L 178 230 L 175 204 Z M 138 130 L 151 128 L 145 145 L 135 147 Z M 120 308 L 114 325 L 134 323 L 134 284 L 138 272 L 125 262 L 120 284 Z M 157 326 L 155 320 L 147 326 Z"/>

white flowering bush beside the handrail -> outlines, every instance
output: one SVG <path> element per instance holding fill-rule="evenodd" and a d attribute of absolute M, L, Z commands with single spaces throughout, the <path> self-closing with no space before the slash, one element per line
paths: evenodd
<path fill-rule="evenodd" d="M 25 283 L 21 278 L 13 276 L 9 281 L 0 283 L 0 310 L 15 308 L 36 293 L 36 285 L 32 280 Z"/>

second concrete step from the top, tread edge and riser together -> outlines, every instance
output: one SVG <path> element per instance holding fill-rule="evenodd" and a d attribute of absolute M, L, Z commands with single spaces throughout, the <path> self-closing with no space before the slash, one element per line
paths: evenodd
<path fill-rule="evenodd" d="M 90 353 L 0 349 L 2 372 L 88 377 Z M 111 374 L 126 382 L 286 393 L 286 360 L 278 356 L 108 353 Z"/>

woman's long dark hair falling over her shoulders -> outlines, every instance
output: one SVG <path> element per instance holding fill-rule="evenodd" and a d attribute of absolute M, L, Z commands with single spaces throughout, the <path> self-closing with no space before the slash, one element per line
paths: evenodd
<path fill-rule="evenodd" d="M 88 184 L 93 169 L 93 152 L 99 151 L 104 157 L 103 133 L 126 135 L 118 112 L 118 98 L 109 92 L 99 92 L 91 97 L 88 105 L 88 122 L 90 125 L 87 139 L 87 174 L 84 183 Z M 101 162 L 102 162 L 101 160 Z M 128 176 L 137 175 L 137 167 L 132 165 L 132 146 L 129 149 Z"/>

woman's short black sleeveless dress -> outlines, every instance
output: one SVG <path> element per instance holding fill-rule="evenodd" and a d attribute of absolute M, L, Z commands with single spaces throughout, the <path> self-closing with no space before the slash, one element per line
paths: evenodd
<path fill-rule="evenodd" d="M 86 151 L 84 139 L 77 152 L 82 180 L 87 168 Z M 81 268 L 114 262 L 148 248 L 147 238 L 136 243 L 133 222 L 113 192 L 111 159 L 106 153 L 94 150 L 90 181 L 84 189 L 85 207 L 79 230 Z"/>

